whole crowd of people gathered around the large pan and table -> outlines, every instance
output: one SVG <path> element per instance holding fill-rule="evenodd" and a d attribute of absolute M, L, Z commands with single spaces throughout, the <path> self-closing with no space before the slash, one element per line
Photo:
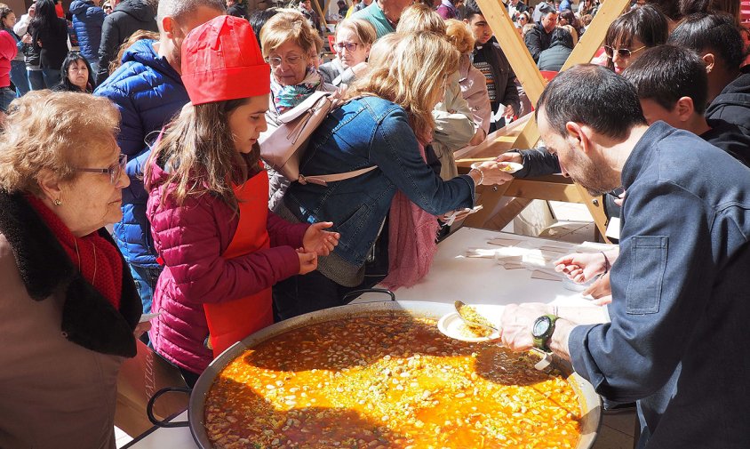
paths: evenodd
<path fill-rule="evenodd" d="M 637 401 L 641 447 L 750 445 L 750 354 L 732 345 L 750 287 L 739 2 L 633 4 L 598 64 L 550 76 L 545 147 L 459 174 L 457 149 L 532 106 L 475 1 L 338 4 L 326 61 L 310 1 L 74 0 L 67 18 L 36 0 L 18 21 L 0 5 L 0 446 L 113 447 L 137 338 L 192 386 L 267 325 L 419 282 L 478 186 L 555 172 L 621 219 L 619 250 L 557 261 L 607 313 L 510 306 L 502 341 Z M 506 6 L 550 72 L 599 8 Z M 287 179 L 264 142 L 325 95 Z"/>

